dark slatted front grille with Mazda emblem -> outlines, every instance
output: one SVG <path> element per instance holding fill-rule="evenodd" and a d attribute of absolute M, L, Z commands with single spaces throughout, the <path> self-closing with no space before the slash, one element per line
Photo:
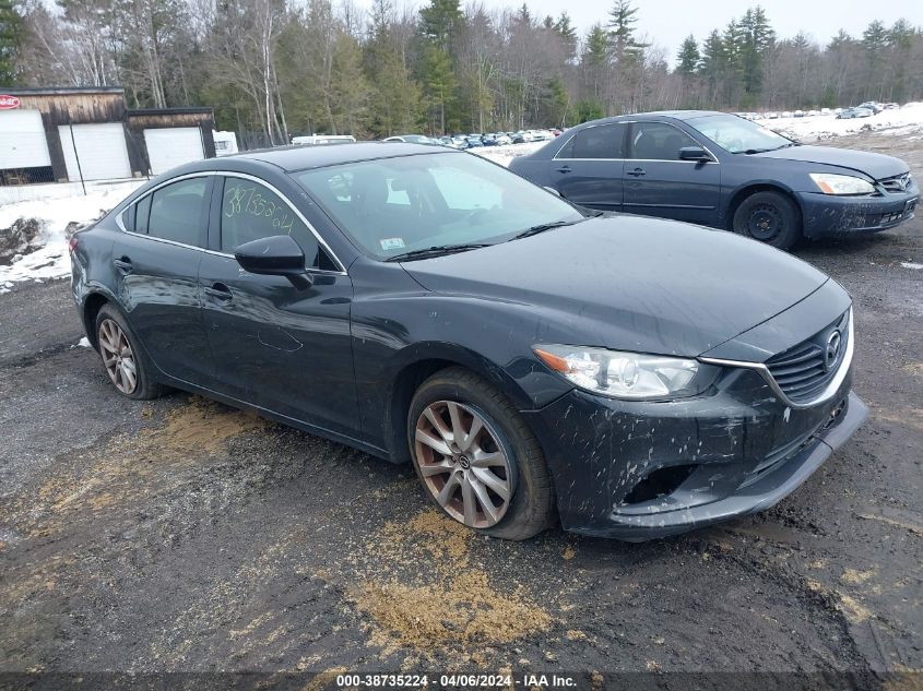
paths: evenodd
<path fill-rule="evenodd" d="M 847 310 L 836 322 L 803 341 L 772 356 L 766 367 L 776 384 L 791 401 L 806 403 L 817 397 L 836 377 L 849 349 L 849 319 Z M 839 334 L 835 336 L 833 334 Z M 828 355 L 832 338 L 839 341 L 835 357 Z"/>

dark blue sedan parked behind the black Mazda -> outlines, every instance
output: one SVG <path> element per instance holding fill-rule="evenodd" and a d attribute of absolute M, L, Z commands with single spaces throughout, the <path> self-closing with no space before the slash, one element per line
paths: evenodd
<path fill-rule="evenodd" d="M 510 168 L 589 209 L 688 221 L 782 249 L 892 228 L 920 198 L 898 158 L 806 146 L 700 110 L 587 122 Z"/>

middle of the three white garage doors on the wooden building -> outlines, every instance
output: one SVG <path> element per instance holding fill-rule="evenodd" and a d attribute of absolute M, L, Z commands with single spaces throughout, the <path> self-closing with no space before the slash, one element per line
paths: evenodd
<path fill-rule="evenodd" d="M 71 181 L 80 180 L 81 172 L 84 180 L 131 177 L 125 128 L 121 122 L 74 124 L 73 136 L 71 126 L 62 124 L 58 128 L 58 133 L 61 135 L 61 148 L 64 150 L 64 163 Z"/>

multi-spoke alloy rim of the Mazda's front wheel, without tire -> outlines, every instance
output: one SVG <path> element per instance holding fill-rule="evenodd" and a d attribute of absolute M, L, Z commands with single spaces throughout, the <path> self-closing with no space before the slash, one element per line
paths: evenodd
<path fill-rule="evenodd" d="M 436 401 L 417 419 L 414 439 L 419 474 L 446 513 L 473 528 L 504 517 L 516 490 L 513 461 L 476 410 Z"/>

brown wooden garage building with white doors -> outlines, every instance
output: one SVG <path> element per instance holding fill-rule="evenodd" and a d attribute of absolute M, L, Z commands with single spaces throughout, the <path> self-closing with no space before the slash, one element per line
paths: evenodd
<path fill-rule="evenodd" d="M 144 177 L 215 155 L 211 108 L 131 110 L 116 86 L 0 94 L 0 184 Z"/>

